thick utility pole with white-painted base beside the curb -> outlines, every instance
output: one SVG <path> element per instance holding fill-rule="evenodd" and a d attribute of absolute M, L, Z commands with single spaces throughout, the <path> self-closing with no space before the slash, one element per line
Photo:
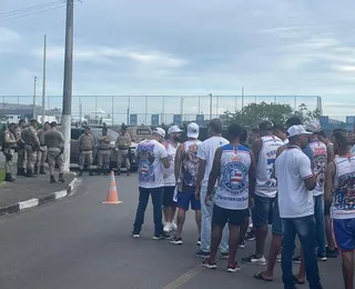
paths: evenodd
<path fill-rule="evenodd" d="M 71 139 L 71 99 L 73 86 L 73 22 L 74 0 L 67 0 L 65 20 L 65 54 L 64 54 L 64 83 L 63 83 L 63 111 L 62 128 L 65 141 L 64 171 L 70 170 L 70 139 Z"/>

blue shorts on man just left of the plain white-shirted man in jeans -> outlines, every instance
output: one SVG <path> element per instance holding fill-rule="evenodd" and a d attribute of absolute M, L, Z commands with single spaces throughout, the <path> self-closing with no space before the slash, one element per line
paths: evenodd
<path fill-rule="evenodd" d="M 273 207 L 275 198 L 254 196 L 252 219 L 254 227 L 263 227 L 273 223 Z"/>

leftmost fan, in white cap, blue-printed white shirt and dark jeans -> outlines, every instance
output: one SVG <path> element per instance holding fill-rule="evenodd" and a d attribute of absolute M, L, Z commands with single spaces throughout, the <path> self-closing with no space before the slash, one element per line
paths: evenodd
<path fill-rule="evenodd" d="M 153 216 L 154 216 L 154 240 L 168 239 L 170 236 L 163 231 L 162 223 L 162 205 L 164 187 L 164 168 L 170 167 L 165 147 L 161 143 L 165 137 L 162 128 L 156 128 L 152 132 L 151 140 L 141 141 L 135 150 L 138 157 L 138 176 L 139 176 L 139 205 L 135 213 L 132 237 L 140 238 L 144 213 L 149 201 L 152 197 Z"/>

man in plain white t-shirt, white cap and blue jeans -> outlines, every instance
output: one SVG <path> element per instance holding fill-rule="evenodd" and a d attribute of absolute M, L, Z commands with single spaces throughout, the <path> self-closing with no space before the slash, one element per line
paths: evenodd
<path fill-rule="evenodd" d="M 302 152 L 308 144 L 308 134 L 302 126 L 288 130 L 288 146 L 275 161 L 278 182 L 278 209 L 282 218 L 282 279 L 285 289 L 295 289 L 292 271 L 292 256 L 296 235 L 305 257 L 305 268 L 310 288 L 322 289 L 315 237 L 314 201 L 312 190 L 316 187 L 311 161 Z"/>

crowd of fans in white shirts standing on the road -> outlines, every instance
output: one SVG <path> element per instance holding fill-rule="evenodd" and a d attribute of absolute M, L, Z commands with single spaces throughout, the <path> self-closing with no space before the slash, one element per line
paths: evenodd
<path fill-rule="evenodd" d="M 195 256 L 204 258 L 206 268 L 217 268 L 220 250 L 227 271 L 240 270 L 237 248 L 255 239 L 255 252 L 242 262 L 267 265 L 254 275 L 256 279 L 273 281 L 275 263 L 281 261 L 285 289 L 306 280 L 311 289 L 320 289 L 317 262 L 341 253 L 344 286 L 353 288 L 355 157 L 348 131 L 335 130 L 331 140 L 317 121 L 303 126 L 292 117 L 282 126 L 262 121 L 250 137 L 245 128 L 232 123 L 227 139 L 223 138 L 219 119 L 210 121 L 205 141 L 199 140 L 194 122 L 186 128 L 185 142 L 181 134 L 173 126 L 165 140 L 165 131 L 156 128 L 152 139 L 138 144 L 140 193 L 133 238 L 140 238 L 151 196 L 153 239 L 182 245 L 185 213 L 190 208 L 195 211 L 200 246 Z M 171 237 L 171 231 L 176 233 Z M 296 236 L 302 250 L 293 258 Z M 301 263 L 296 275 L 293 262 Z"/>

